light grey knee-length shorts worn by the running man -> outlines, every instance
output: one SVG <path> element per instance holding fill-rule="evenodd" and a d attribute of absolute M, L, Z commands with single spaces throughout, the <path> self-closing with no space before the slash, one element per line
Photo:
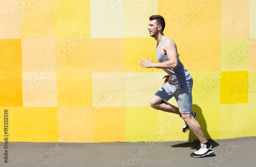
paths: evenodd
<path fill-rule="evenodd" d="M 192 112 L 192 87 L 193 78 L 187 80 L 186 84 L 180 86 L 166 82 L 154 96 L 160 97 L 164 102 L 175 97 L 179 106 L 179 112 L 181 114 L 190 114 Z"/>

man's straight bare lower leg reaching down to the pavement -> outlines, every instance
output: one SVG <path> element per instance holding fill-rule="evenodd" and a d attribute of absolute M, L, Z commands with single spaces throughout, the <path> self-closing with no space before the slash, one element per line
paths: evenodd
<path fill-rule="evenodd" d="M 196 135 L 200 143 L 207 143 L 207 139 L 201 129 L 200 124 L 191 114 L 181 114 L 181 118 L 186 122 L 192 132 Z"/>

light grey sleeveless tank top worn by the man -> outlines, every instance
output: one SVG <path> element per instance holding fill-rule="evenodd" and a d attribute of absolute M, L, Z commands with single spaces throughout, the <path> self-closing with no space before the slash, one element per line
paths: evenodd
<path fill-rule="evenodd" d="M 161 53 L 161 47 L 163 45 L 163 42 L 167 39 L 166 37 L 159 46 L 158 52 L 156 53 L 156 60 L 158 63 L 166 62 L 168 61 L 167 55 L 163 55 Z M 177 50 L 177 46 L 176 46 Z M 178 54 L 178 51 L 177 51 Z M 186 81 L 191 79 L 192 76 L 190 73 L 184 68 L 183 64 L 181 63 L 179 57 L 178 57 L 178 67 L 176 69 L 163 69 L 169 76 L 169 83 L 173 85 L 183 85 L 186 84 Z"/>

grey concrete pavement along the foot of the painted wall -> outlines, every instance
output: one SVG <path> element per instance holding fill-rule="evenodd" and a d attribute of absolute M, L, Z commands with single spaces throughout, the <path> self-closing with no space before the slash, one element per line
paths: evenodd
<path fill-rule="evenodd" d="M 256 137 L 209 141 L 215 153 L 193 158 L 198 141 L 159 143 L 5 143 L 0 166 L 255 166 Z"/>

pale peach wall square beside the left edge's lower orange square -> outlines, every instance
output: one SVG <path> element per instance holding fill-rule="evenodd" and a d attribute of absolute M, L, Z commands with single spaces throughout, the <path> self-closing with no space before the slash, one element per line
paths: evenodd
<path fill-rule="evenodd" d="M 55 72 L 23 72 L 23 106 L 57 107 L 57 79 Z"/>

